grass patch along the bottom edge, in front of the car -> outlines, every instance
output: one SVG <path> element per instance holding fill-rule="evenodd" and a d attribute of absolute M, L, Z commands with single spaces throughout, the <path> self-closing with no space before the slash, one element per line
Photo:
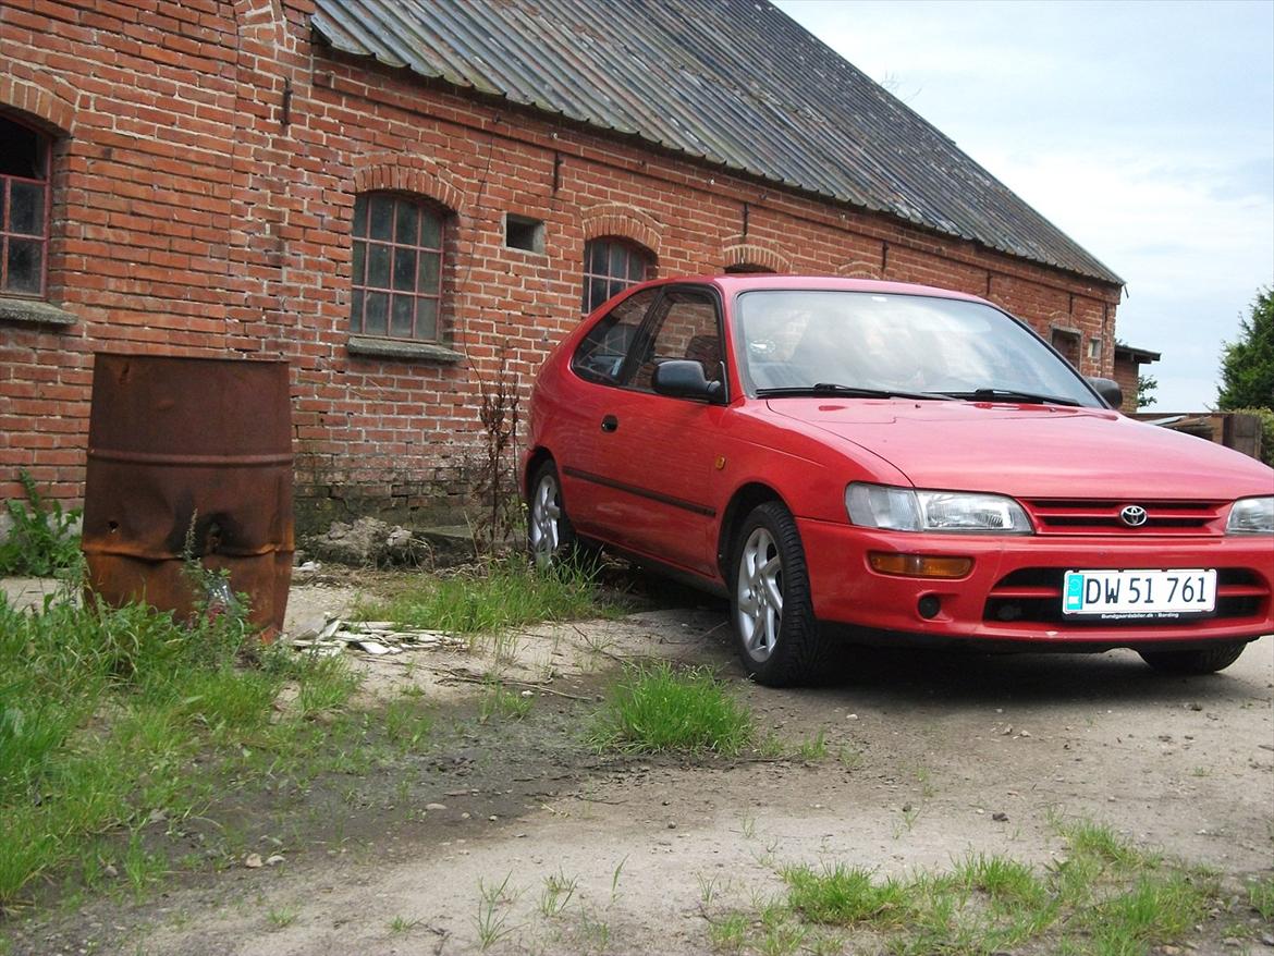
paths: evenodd
<path fill-rule="evenodd" d="M 882 876 L 828 863 L 782 868 L 786 897 L 708 914 L 720 952 L 1060 952 L 1149 956 L 1224 909 L 1218 878 L 1166 860 L 1089 821 L 1059 821 L 1069 855 L 1050 867 L 982 853 L 945 872 Z M 1266 915 L 1269 880 L 1250 880 Z M 707 909 L 711 899 L 702 902 Z M 1268 916 L 1266 916 L 1268 918 Z M 848 937 L 829 933 L 848 933 Z"/>

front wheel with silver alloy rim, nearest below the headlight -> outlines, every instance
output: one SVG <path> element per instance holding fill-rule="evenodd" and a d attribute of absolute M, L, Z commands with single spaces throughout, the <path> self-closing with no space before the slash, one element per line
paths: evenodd
<path fill-rule="evenodd" d="M 823 676 L 828 644 L 814 618 L 800 533 L 781 502 L 767 501 L 748 515 L 731 567 L 730 616 L 744 669 L 768 687 Z"/>

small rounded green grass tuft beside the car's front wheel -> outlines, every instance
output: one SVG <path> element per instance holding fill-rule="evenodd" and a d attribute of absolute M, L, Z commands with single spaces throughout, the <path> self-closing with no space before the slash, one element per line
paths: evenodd
<path fill-rule="evenodd" d="M 735 756 L 755 738 L 752 713 L 703 668 L 631 667 L 594 719 L 598 752 Z"/>

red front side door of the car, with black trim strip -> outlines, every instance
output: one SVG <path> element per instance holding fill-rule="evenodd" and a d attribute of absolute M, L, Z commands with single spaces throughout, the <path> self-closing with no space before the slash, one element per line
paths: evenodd
<path fill-rule="evenodd" d="M 613 540 L 699 574 L 712 574 L 716 509 L 710 497 L 729 389 L 717 402 L 656 394 L 655 368 L 693 359 L 726 382 L 719 298 L 708 287 L 669 286 L 631 349 L 620 389 L 606 395 L 594 460 L 605 482 Z"/>

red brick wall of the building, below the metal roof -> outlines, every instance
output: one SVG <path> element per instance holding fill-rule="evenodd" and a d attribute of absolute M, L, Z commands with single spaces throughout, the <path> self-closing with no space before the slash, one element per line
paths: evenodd
<path fill-rule="evenodd" d="M 333 55 L 311 11 L 0 5 L 0 110 L 57 135 L 50 301 L 75 319 L 0 321 L 0 498 L 18 468 L 80 496 L 92 353 L 110 349 L 287 358 L 302 505 L 441 507 L 475 450 L 478 376 L 505 348 L 525 394 L 605 235 L 661 275 L 750 261 L 973 292 L 1101 337 L 1083 371 L 1112 371 L 1116 288 Z M 451 213 L 461 362 L 347 348 L 354 196 L 386 186 Z M 506 213 L 544 221 L 543 255 L 505 247 Z"/>

